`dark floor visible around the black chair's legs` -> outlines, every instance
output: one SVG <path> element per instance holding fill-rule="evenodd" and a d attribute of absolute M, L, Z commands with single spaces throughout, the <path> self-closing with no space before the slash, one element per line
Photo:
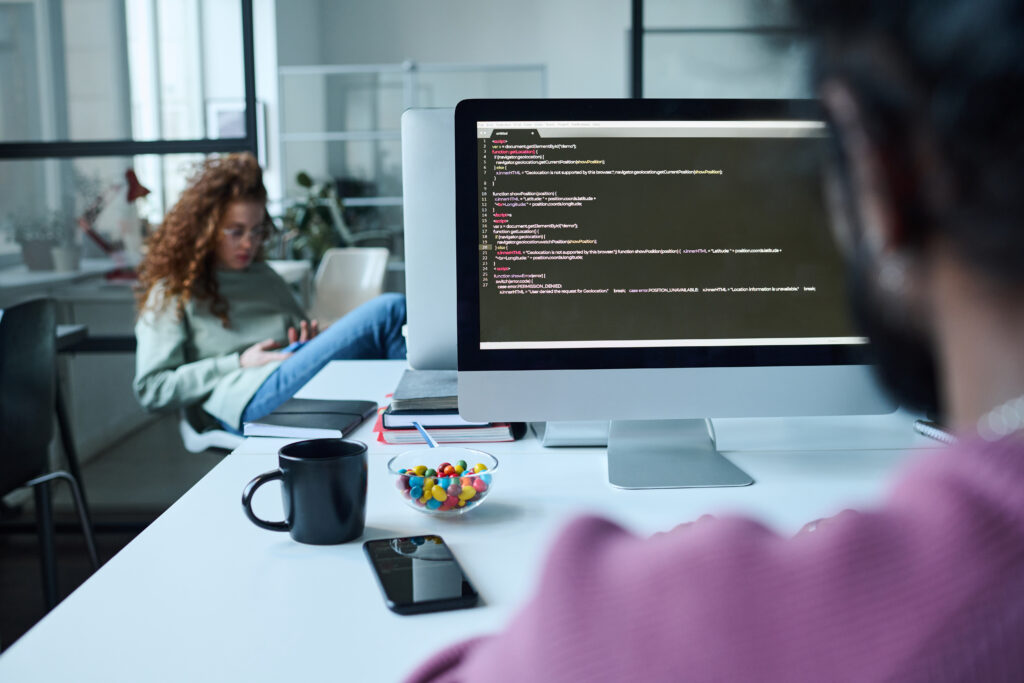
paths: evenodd
<path fill-rule="evenodd" d="M 98 454 L 82 467 L 82 478 L 96 526 L 100 563 L 131 542 L 174 501 L 223 458 L 223 453 L 190 454 L 181 445 L 177 417 L 146 424 Z M 91 573 L 71 496 L 55 484 L 58 525 L 58 590 L 67 597 Z M 31 501 L 31 497 L 30 497 Z M 32 506 L 4 523 L 31 522 Z M 46 614 L 35 527 L 30 532 L 0 533 L 0 649 L 8 647 Z"/>

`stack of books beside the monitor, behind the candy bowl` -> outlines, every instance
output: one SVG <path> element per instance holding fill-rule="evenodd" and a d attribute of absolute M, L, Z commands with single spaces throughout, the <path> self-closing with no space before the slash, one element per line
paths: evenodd
<path fill-rule="evenodd" d="M 459 416 L 458 380 L 454 370 L 407 370 L 380 411 L 374 430 L 384 443 L 423 443 L 413 426 L 419 422 L 438 443 L 512 441 L 518 425 L 469 422 Z"/>

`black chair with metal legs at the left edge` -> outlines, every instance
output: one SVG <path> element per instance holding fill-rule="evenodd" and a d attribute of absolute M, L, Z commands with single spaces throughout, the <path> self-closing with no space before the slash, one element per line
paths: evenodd
<path fill-rule="evenodd" d="M 56 555 L 50 482 L 71 486 L 94 569 L 99 567 L 89 512 L 79 481 L 51 471 L 56 400 L 56 312 L 52 299 L 35 299 L 0 310 L 0 496 L 31 486 L 36 501 L 43 594 L 57 603 Z"/>

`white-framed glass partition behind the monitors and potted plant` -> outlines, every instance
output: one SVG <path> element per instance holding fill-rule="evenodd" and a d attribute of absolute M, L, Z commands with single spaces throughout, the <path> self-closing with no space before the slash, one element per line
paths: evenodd
<path fill-rule="evenodd" d="M 387 230 L 400 244 L 401 113 L 469 97 L 544 97 L 543 65 L 314 65 L 282 67 L 286 207 L 302 201 L 300 172 L 330 183 L 353 232 Z M 395 249 L 395 251 L 399 251 Z"/>

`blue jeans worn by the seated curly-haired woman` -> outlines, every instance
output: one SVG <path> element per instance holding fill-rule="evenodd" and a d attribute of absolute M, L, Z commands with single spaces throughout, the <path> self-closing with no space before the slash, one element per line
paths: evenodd
<path fill-rule="evenodd" d="M 252 422 L 272 413 L 331 360 L 404 358 L 404 324 L 406 297 L 400 294 L 382 294 L 350 311 L 263 380 L 242 413 L 242 421 Z"/>

